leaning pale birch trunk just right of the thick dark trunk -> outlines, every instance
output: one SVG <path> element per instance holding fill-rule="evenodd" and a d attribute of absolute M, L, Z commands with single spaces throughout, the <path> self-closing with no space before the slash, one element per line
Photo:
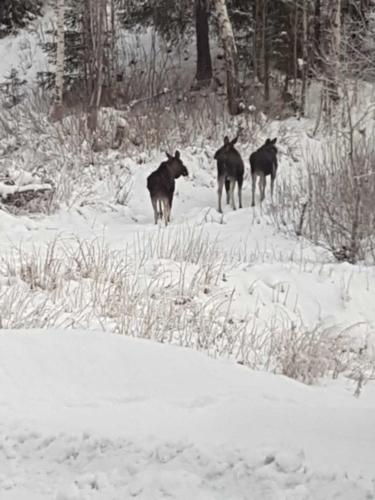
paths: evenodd
<path fill-rule="evenodd" d="M 231 115 L 239 113 L 240 85 L 238 80 L 237 47 L 234 40 L 232 24 L 228 16 L 225 0 L 213 0 L 217 12 L 218 25 L 221 42 L 224 48 L 226 75 L 227 75 L 227 99 Z"/>

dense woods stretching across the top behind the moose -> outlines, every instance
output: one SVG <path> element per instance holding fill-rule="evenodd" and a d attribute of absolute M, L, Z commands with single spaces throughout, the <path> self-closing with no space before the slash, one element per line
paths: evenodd
<path fill-rule="evenodd" d="M 60 108 L 63 99 L 66 106 L 83 103 L 93 128 L 101 105 L 158 95 L 167 85 L 156 74 L 167 68 L 177 45 L 196 46 L 190 88 L 220 89 L 231 114 L 244 105 L 267 109 L 272 101 L 303 115 L 312 79 L 324 83 L 322 100 L 329 111 L 340 99 L 345 76 L 374 74 L 372 0 L 54 0 L 48 5 L 57 23 L 45 48 L 57 64 L 56 73 L 39 75 L 40 85 L 56 88 Z M 42 7 L 42 0 L 3 1 L 0 33 L 25 27 Z M 124 51 L 125 30 L 148 30 L 153 51 L 148 67 Z"/>

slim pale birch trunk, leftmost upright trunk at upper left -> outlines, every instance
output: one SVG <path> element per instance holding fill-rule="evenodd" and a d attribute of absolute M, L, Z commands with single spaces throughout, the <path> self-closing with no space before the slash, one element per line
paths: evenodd
<path fill-rule="evenodd" d="M 55 120 L 61 120 L 63 117 L 64 100 L 64 66 L 65 66 L 65 2 L 57 2 L 57 46 L 56 46 L 56 87 L 55 102 L 52 115 Z"/>

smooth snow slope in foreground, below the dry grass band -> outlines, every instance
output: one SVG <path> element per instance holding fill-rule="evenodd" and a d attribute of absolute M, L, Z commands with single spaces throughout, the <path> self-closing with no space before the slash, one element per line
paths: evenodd
<path fill-rule="evenodd" d="M 0 335 L 0 498 L 374 498 L 375 400 L 94 332 Z"/>

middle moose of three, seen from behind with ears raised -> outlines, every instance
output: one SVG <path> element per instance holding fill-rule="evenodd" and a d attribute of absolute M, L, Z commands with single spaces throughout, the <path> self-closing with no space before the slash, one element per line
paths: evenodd
<path fill-rule="evenodd" d="M 237 182 L 238 185 L 238 203 L 242 208 L 242 183 L 244 176 L 244 163 L 240 153 L 234 147 L 238 140 L 239 134 L 229 140 L 228 136 L 224 137 L 224 145 L 218 149 L 214 155 L 217 163 L 217 194 L 218 194 L 218 211 L 222 213 L 221 208 L 221 195 L 223 186 L 225 184 L 225 191 L 227 193 L 227 204 L 231 203 L 233 210 L 236 210 L 236 203 L 234 201 L 234 188 Z"/>

